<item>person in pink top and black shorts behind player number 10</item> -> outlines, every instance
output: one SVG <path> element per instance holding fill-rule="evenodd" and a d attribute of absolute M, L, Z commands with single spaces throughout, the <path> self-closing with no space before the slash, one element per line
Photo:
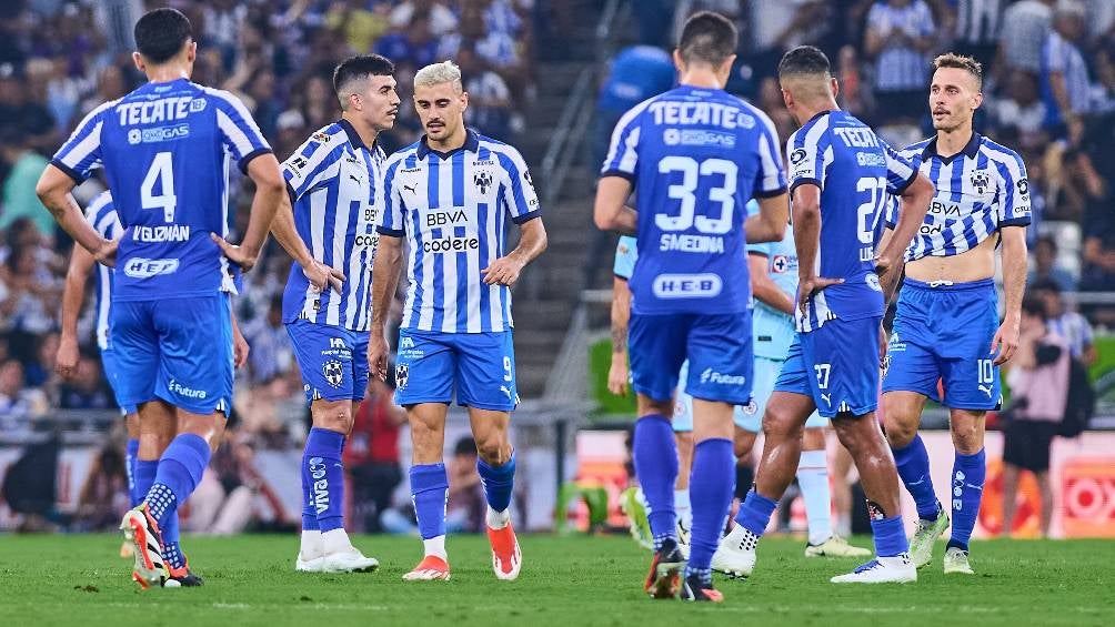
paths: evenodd
<path fill-rule="evenodd" d="M 1061 337 L 1050 333 L 1040 300 L 1022 301 L 1018 351 L 1010 361 L 1007 383 L 1014 394 L 1005 411 L 1002 461 L 1002 535 L 1009 536 L 1015 519 L 1018 474 L 1037 476 L 1041 492 L 1041 536 L 1049 535 L 1053 492 L 1049 489 L 1049 449 L 1068 400 L 1069 351 Z"/>

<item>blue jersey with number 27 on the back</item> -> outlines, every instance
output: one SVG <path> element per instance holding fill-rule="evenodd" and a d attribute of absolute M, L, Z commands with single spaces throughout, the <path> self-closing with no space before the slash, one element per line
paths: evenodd
<path fill-rule="evenodd" d="M 821 188 L 821 241 L 814 272 L 843 278 L 814 294 L 797 330 L 826 321 L 883 315 L 883 292 L 875 275 L 875 243 L 884 226 L 888 194 L 899 195 L 918 170 L 867 125 L 841 110 L 823 111 L 789 137 L 789 188 Z"/>

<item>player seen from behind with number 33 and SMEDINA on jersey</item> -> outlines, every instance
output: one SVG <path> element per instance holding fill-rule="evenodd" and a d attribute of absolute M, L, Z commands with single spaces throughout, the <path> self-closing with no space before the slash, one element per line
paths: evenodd
<path fill-rule="evenodd" d="M 731 504 L 733 405 L 752 399 L 746 241 L 780 239 L 786 184 L 774 125 L 724 91 L 738 35 L 723 16 L 689 18 L 673 52 L 680 87 L 628 111 L 597 187 L 600 228 L 637 233 L 631 275 L 631 372 L 638 393 L 632 457 L 650 507 L 655 598 L 720 601 L 710 562 Z M 624 203 L 632 188 L 638 210 Z M 747 217 L 753 196 L 760 212 Z M 745 227 L 746 221 L 746 229 Z M 670 428 L 681 364 L 694 396 L 689 564 L 675 536 L 678 457 Z"/>

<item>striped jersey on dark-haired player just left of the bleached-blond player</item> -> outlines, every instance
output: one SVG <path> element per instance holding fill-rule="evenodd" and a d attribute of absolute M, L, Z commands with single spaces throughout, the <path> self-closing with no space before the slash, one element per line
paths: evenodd
<path fill-rule="evenodd" d="M 318 291 L 293 264 L 283 292 L 283 322 L 302 319 L 368 330 L 386 160 L 382 148 L 365 146 L 342 119 L 311 135 L 283 161 L 298 235 L 314 259 L 345 273 L 340 294 Z"/>

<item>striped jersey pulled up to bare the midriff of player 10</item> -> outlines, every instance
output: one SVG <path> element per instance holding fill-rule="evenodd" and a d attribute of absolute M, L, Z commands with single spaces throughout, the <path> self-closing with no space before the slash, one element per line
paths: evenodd
<path fill-rule="evenodd" d="M 963 150 L 949 157 L 937 153 L 937 139 L 906 147 L 909 159 L 937 189 L 925 221 L 918 228 L 908 262 L 947 257 L 975 248 L 1004 226 L 1030 224 L 1030 186 L 1026 164 L 1017 153 L 973 133 Z M 898 222 L 891 203 L 888 225 Z"/>

